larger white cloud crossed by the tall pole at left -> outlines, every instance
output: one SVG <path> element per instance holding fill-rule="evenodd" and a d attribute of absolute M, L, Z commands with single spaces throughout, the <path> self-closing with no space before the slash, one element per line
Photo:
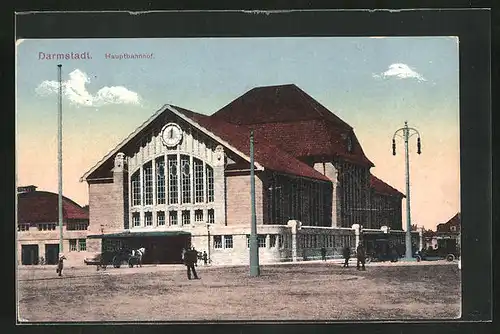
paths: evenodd
<path fill-rule="evenodd" d="M 123 86 L 102 87 L 95 95 L 87 91 L 90 79 L 85 72 L 75 69 L 69 79 L 62 82 L 63 95 L 72 103 L 86 107 L 98 107 L 107 104 L 140 104 L 140 96 Z M 36 88 L 41 96 L 58 93 L 57 81 L 45 80 Z"/>

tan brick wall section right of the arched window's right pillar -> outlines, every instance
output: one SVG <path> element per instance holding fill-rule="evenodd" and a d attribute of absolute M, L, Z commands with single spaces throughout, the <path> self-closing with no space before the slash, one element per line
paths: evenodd
<path fill-rule="evenodd" d="M 232 175 L 227 182 L 227 225 L 240 225 L 251 219 L 250 175 Z M 260 175 L 255 176 L 255 211 L 257 224 L 263 224 L 263 196 Z"/>

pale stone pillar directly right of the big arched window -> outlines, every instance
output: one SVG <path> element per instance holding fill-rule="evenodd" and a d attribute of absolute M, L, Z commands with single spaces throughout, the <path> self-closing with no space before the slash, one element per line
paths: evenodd
<path fill-rule="evenodd" d="M 226 182 L 224 180 L 225 154 L 224 148 L 215 148 L 214 167 L 214 211 L 215 223 L 226 225 Z"/>

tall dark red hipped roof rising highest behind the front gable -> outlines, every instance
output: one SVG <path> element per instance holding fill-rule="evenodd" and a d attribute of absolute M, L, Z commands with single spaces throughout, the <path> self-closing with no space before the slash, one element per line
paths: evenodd
<path fill-rule="evenodd" d="M 257 87 L 235 99 L 212 117 L 251 126 L 296 158 L 341 157 L 373 167 L 352 127 L 295 85 Z M 352 150 L 348 150 L 348 138 Z"/>

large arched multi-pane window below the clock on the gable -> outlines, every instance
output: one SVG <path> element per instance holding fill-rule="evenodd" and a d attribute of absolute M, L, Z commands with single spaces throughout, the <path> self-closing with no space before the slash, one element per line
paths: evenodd
<path fill-rule="evenodd" d="M 132 174 L 130 189 L 134 227 L 214 222 L 214 170 L 199 158 L 169 152 L 150 160 Z M 140 206 L 148 208 L 139 215 Z"/>

